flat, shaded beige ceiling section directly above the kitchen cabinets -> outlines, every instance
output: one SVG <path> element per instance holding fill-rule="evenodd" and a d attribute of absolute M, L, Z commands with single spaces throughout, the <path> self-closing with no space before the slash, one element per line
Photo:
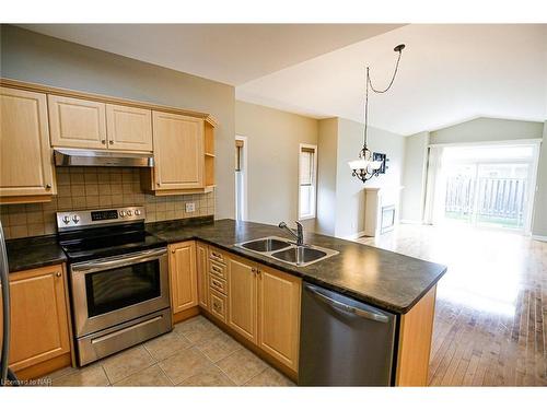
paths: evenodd
<path fill-rule="evenodd" d="M 231 85 L 400 24 L 20 24 L 21 27 Z"/>

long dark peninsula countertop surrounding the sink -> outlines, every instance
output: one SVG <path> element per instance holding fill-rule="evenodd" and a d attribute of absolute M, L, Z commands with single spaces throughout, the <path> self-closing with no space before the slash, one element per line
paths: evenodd
<path fill-rule="evenodd" d="M 234 246 L 270 235 L 290 238 L 277 226 L 253 222 L 168 221 L 147 224 L 147 230 L 168 243 L 200 239 L 396 314 L 407 313 L 446 272 L 442 265 L 313 233 L 306 233 L 306 243 L 339 254 L 307 267 L 294 267 Z"/>

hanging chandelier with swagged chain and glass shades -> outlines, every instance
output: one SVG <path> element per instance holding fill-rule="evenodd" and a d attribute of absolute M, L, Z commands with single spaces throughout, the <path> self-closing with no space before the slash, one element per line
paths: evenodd
<path fill-rule="evenodd" d="M 392 80 L 389 84 L 384 90 L 376 90 L 374 85 L 372 85 L 370 68 L 366 67 L 366 91 L 364 94 L 364 133 L 363 133 L 363 148 L 359 152 L 359 159 L 354 161 L 350 161 L 348 163 L 351 168 L 351 175 L 359 178 L 360 180 L 368 181 L 373 176 L 380 175 L 380 169 L 382 168 L 383 161 L 374 160 L 372 152 L 366 148 L 366 131 L 369 128 L 369 89 L 372 90 L 376 94 L 386 93 L 393 85 L 395 81 L 395 77 L 397 75 L 397 70 L 399 68 L 400 55 L 403 54 L 403 49 L 405 48 L 404 44 L 399 44 L 393 50 L 398 52 L 397 62 L 395 65 L 395 70 L 392 75 Z"/>

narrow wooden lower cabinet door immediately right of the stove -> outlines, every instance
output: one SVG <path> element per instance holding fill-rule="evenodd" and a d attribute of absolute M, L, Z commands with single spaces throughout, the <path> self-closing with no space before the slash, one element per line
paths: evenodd
<path fill-rule="evenodd" d="M 170 245 L 170 281 L 173 313 L 198 304 L 196 274 L 196 243 L 194 241 Z"/>

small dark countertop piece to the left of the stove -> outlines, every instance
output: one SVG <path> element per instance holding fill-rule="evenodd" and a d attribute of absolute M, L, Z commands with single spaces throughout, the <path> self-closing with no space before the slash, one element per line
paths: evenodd
<path fill-rule="evenodd" d="M 56 236 L 35 236 L 5 241 L 10 273 L 61 263 L 67 256 Z"/>

